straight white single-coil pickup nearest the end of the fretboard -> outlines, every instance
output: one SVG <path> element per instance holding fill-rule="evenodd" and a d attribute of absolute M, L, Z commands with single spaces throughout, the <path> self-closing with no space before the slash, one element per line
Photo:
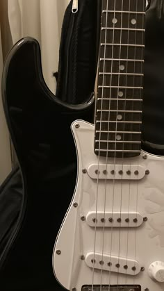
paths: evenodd
<path fill-rule="evenodd" d="M 94 179 L 140 180 L 145 176 L 145 168 L 141 165 L 92 164 L 88 167 L 88 175 Z"/>

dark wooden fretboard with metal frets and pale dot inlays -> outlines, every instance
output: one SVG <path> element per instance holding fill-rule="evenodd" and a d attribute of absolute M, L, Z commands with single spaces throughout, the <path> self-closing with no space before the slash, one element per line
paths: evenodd
<path fill-rule="evenodd" d="M 95 153 L 140 154 L 145 0 L 102 0 Z"/>

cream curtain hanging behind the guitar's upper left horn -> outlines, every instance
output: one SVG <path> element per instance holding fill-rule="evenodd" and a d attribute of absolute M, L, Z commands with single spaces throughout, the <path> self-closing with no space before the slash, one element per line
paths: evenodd
<path fill-rule="evenodd" d="M 32 36 L 40 42 L 44 79 L 56 91 L 53 72 L 58 69 L 58 50 L 63 15 L 69 0 L 8 0 L 13 43 Z"/>

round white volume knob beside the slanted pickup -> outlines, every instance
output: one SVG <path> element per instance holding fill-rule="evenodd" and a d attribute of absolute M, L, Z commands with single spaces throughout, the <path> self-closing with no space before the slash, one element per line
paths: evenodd
<path fill-rule="evenodd" d="M 149 276 L 158 282 L 164 282 L 164 263 L 156 261 L 149 266 Z"/>

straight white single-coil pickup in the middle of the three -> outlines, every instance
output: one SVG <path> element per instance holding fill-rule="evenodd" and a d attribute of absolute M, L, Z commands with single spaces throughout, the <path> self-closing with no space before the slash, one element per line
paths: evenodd
<path fill-rule="evenodd" d="M 89 212 L 86 222 L 89 226 L 97 227 L 138 227 L 144 219 L 140 213 L 134 212 Z"/>

